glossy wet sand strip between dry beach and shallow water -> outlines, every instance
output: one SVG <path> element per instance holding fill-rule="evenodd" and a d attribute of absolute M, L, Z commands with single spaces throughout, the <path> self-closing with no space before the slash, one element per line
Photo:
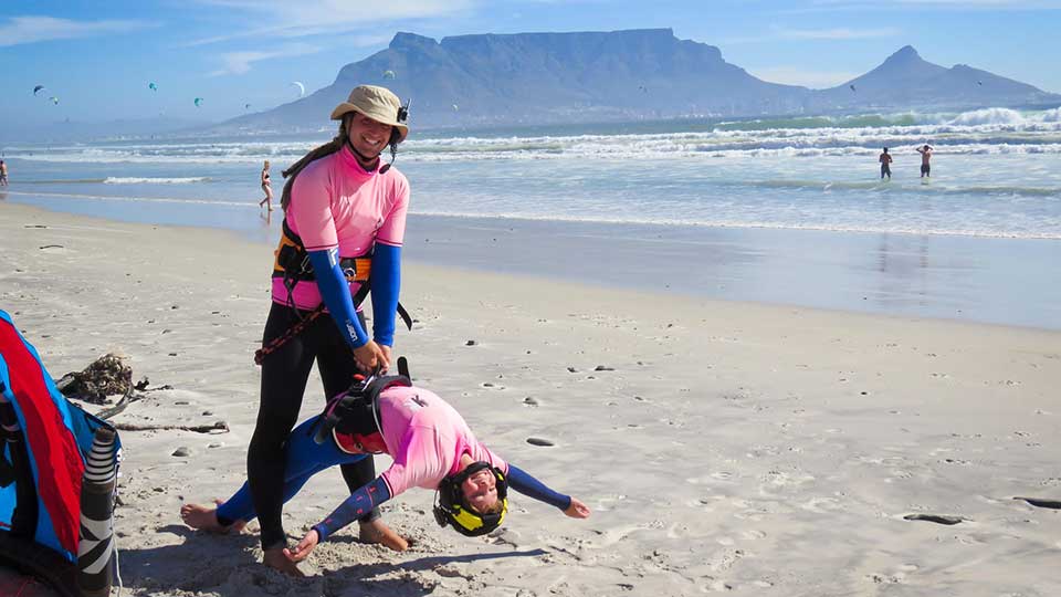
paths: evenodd
<path fill-rule="evenodd" d="M 91 206 L 80 207 L 85 213 L 75 217 L 93 217 Z M 265 220 L 245 211 L 222 206 L 172 226 L 235 231 L 272 247 L 281 212 Z M 145 211 L 111 221 L 154 219 Z M 1061 283 L 1042 275 L 1061 254 L 1050 239 L 410 214 L 405 245 L 407 262 L 598 287 L 1061 329 Z"/>

